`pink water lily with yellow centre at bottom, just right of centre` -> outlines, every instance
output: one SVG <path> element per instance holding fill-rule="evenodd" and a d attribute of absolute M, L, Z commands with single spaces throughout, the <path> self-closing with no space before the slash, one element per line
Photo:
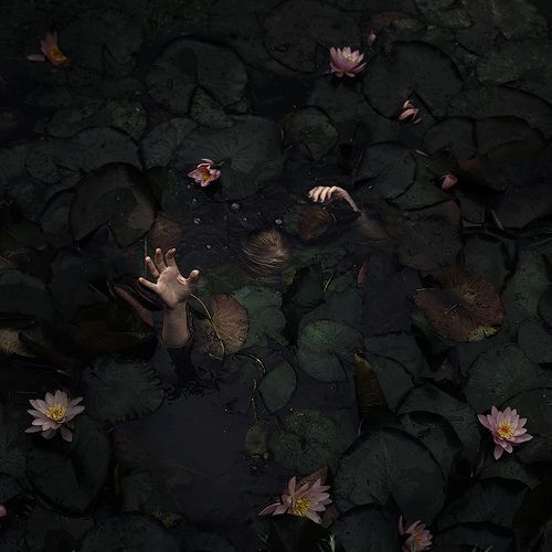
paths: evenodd
<path fill-rule="evenodd" d="M 330 495 L 327 492 L 329 488 L 328 485 L 322 485 L 318 478 L 312 485 L 305 484 L 297 489 L 297 479 L 291 477 L 287 484 L 287 492 L 282 495 L 282 500 L 267 506 L 259 512 L 259 516 L 291 513 L 321 523 L 319 512 L 323 512 L 326 507 L 331 503 Z"/>

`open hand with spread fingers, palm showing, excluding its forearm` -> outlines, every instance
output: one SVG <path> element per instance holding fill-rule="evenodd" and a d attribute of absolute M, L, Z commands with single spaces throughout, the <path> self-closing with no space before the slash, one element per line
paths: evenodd
<path fill-rule="evenodd" d="M 188 278 L 184 278 L 174 261 L 176 253 L 177 250 L 169 250 L 163 257 L 161 250 L 156 250 L 155 263 L 151 257 L 146 257 L 146 266 L 156 283 L 142 277 L 138 278 L 138 282 L 157 294 L 169 309 L 174 309 L 179 304 L 188 301 L 200 277 L 200 272 L 194 269 Z"/>

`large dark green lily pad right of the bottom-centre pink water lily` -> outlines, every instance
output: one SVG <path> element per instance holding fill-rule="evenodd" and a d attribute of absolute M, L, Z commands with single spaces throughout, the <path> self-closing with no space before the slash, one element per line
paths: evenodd
<path fill-rule="evenodd" d="M 385 428 L 357 439 L 341 458 L 335 490 L 340 510 L 392 498 L 406 519 L 431 523 L 445 500 L 439 465 L 407 433 Z"/>

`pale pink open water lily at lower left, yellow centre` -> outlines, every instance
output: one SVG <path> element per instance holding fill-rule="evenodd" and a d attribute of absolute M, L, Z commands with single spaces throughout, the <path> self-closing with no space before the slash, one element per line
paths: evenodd
<path fill-rule="evenodd" d="M 53 395 L 46 393 L 44 401 L 31 399 L 29 402 L 33 410 L 26 412 L 34 420 L 25 433 L 41 433 L 45 439 L 51 439 L 60 429 L 65 440 L 73 440 L 71 421 L 84 411 L 84 406 L 78 404 L 82 400 L 82 396 L 70 400 L 67 393 L 60 390 Z"/>

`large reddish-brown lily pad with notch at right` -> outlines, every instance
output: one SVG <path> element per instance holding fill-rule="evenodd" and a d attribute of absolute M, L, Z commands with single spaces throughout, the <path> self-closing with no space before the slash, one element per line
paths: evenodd
<path fill-rule="evenodd" d="M 420 290 L 414 300 L 434 329 L 453 341 L 481 341 L 497 333 L 505 311 L 493 286 L 461 266 L 443 268 L 440 288 Z"/>

